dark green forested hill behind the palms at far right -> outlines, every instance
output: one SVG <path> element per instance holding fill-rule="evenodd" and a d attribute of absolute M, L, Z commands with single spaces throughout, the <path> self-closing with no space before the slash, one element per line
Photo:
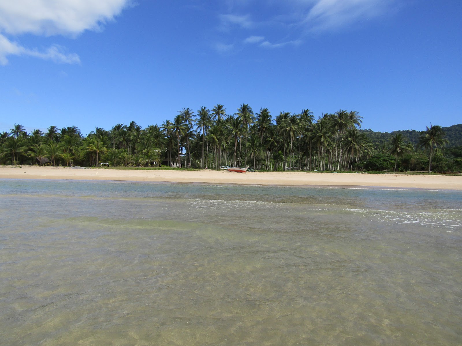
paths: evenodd
<path fill-rule="evenodd" d="M 391 136 L 401 133 L 405 137 L 405 142 L 410 142 L 414 147 L 419 143 L 420 131 L 415 130 L 401 130 L 393 132 L 375 132 L 371 129 L 361 130 L 371 140 L 376 148 L 382 147 L 384 144 L 388 144 Z M 447 147 L 456 147 L 462 145 L 462 124 L 452 125 L 443 127 L 443 131 L 446 132 L 444 137 L 449 141 Z"/>

